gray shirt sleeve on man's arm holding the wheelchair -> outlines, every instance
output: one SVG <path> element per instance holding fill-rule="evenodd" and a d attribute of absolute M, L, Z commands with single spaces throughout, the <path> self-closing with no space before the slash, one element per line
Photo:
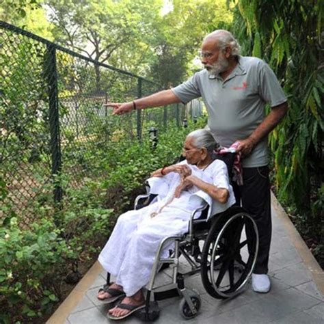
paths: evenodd
<path fill-rule="evenodd" d="M 267 63 L 262 64 L 258 77 L 259 93 L 266 103 L 269 103 L 271 107 L 275 107 L 287 101 L 275 73 Z"/>

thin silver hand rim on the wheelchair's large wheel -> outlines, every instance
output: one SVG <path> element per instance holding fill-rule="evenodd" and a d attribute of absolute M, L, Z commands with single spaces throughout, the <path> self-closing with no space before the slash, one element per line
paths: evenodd
<path fill-rule="evenodd" d="M 254 252 L 254 256 L 253 256 L 252 266 L 249 269 L 249 271 L 248 271 L 247 275 L 245 276 L 245 278 L 239 284 L 239 286 L 237 288 L 235 288 L 234 291 L 232 291 L 232 292 L 224 292 L 224 291 L 221 291 L 219 289 L 219 287 L 217 287 L 217 285 L 216 285 L 217 280 L 215 280 L 214 271 L 212 271 L 212 269 L 214 269 L 215 255 L 216 255 L 216 252 L 217 252 L 217 248 L 219 246 L 219 242 L 222 239 L 224 232 L 226 231 L 228 226 L 232 223 L 232 221 L 234 221 L 235 219 L 237 219 L 239 217 L 247 218 L 250 221 L 250 223 L 253 225 L 254 234 L 256 235 L 256 241 L 255 241 L 255 244 L 254 244 L 255 245 L 255 252 Z M 244 226 L 245 225 L 246 224 L 244 224 Z M 246 239 L 246 241 L 248 243 L 247 239 Z M 213 284 L 213 288 L 215 289 L 215 292 L 219 296 L 224 297 L 224 298 L 233 297 L 234 295 L 237 295 L 238 293 L 240 293 L 240 291 L 244 288 L 245 284 L 247 284 L 247 281 L 249 280 L 250 276 L 252 275 L 252 271 L 254 270 L 254 266 L 256 264 L 257 255 L 258 255 L 258 228 L 256 227 L 256 223 L 255 223 L 254 219 L 250 215 L 248 215 L 247 213 L 237 213 L 236 215 L 233 215 L 232 217 L 230 217 L 230 219 L 228 219 L 228 221 L 226 221 L 223 228 L 221 228 L 221 230 L 219 231 L 219 234 L 217 235 L 216 241 L 215 241 L 215 243 L 213 245 L 213 252 L 212 252 L 212 256 L 211 256 L 210 275 L 211 275 L 211 283 Z M 234 260 L 232 262 L 234 262 Z M 226 271 L 225 271 L 225 273 L 226 273 Z M 224 275 L 225 275 L 225 273 L 224 273 Z M 223 278 L 224 278 L 224 275 L 223 275 Z M 243 275 L 242 275 L 241 278 L 243 278 Z M 241 280 L 241 278 L 239 280 Z M 239 280 L 237 282 L 239 282 Z"/>

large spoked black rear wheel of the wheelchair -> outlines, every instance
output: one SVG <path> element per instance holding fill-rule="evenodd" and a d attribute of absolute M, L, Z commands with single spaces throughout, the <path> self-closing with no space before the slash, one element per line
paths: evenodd
<path fill-rule="evenodd" d="M 242 291 L 258 254 L 254 219 L 241 208 L 232 211 L 215 219 L 202 250 L 202 283 L 215 298 L 233 297 Z"/>

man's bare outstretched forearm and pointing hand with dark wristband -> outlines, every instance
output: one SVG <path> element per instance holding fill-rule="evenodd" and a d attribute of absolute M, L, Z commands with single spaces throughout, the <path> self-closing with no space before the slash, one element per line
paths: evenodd
<path fill-rule="evenodd" d="M 114 115 L 122 115 L 123 113 L 133 111 L 135 107 L 136 109 L 145 109 L 148 107 L 160 107 L 180 102 L 180 99 L 172 90 L 163 90 L 156 94 L 151 94 L 150 96 L 135 99 L 129 103 L 107 103 L 105 106 L 113 107 Z"/>

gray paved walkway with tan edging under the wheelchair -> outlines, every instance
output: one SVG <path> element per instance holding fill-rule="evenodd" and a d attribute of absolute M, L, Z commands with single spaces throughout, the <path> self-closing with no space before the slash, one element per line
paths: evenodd
<path fill-rule="evenodd" d="M 232 300 L 213 299 L 206 294 L 195 275 L 186 281 L 187 287 L 198 290 L 202 308 L 195 319 L 185 321 L 178 311 L 180 299 L 159 301 L 160 318 L 154 323 L 324 323 L 324 276 L 308 252 L 278 202 L 273 199 L 273 239 L 269 275 L 272 288 L 268 294 L 258 294 L 251 286 Z M 167 272 L 160 280 L 166 280 Z M 96 299 L 98 288 L 105 284 L 105 271 L 96 263 L 71 295 L 58 308 L 48 323 L 104 324 L 113 323 L 105 314 L 107 306 Z M 321 291 L 321 292 L 320 292 Z M 130 317 L 126 323 L 141 323 Z M 115 321 L 116 323 L 116 321 Z"/>

